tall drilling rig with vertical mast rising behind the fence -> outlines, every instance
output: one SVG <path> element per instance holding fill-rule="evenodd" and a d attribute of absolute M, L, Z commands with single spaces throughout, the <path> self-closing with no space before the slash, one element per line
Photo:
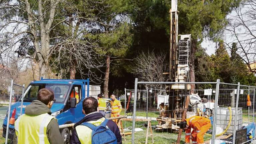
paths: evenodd
<path fill-rule="evenodd" d="M 189 82 L 191 34 L 178 35 L 178 2 L 172 0 L 170 9 L 170 82 Z M 179 37 L 179 40 L 178 40 Z M 169 90 L 169 117 L 180 118 L 184 97 L 190 85 L 172 84 Z"/>

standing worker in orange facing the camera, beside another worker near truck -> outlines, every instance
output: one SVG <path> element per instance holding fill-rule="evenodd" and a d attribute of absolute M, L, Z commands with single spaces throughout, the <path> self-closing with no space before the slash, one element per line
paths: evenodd
<path fill-rule="evenodd" d="M 119 100 L 116 99 L 116 95 L 111 95 L 111 117 L 118 117 L 122 111 L 122 105 Z M 113 120 L 116 124 L 118 123 L 118 119 Z"/>

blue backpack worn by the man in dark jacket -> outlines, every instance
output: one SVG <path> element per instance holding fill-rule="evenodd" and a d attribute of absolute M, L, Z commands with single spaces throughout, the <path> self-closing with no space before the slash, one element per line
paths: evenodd
<path fill-rule="evenodd" d="M 115 134 L 106 127 L 108 119 L 105 119 L 99 126 L 84 122 L 82 125 L 92 130 L 92 144 L 117 144 Z"/>

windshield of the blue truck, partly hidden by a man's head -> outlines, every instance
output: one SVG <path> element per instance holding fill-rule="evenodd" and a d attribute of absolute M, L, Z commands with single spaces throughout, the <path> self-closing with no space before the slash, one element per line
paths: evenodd
<path fill-rule="evenodd" d="M 25 94 L 23 101 L 32 102 L 33 100 L 37 100 L 38 91 L 42 88 L 46 88 L 54 93 L 54 99 L 56 99 L 55 103 L 63 103 L 69 87 L 70 85 L 65 84 L 32 84 L 26 90 L 27 93 Z M 21 99 L 19 101 L 21 101 Z"/>

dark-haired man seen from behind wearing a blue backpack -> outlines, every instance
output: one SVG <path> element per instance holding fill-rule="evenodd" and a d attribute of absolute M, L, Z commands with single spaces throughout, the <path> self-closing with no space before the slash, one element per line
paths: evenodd
<path fill-rule="evenodd" d="M 83 100 L 86 115 L 74 125 L 70 144 L 122 144 L 118 126 L 97 111 L 98 101 L 94 97 Z"/>

